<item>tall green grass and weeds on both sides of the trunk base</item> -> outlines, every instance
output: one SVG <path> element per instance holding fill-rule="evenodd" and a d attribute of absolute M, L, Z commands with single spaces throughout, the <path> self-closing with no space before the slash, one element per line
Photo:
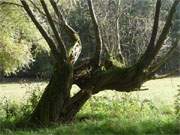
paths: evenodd
<path fill-rule="evenodd" d="M 39 99 L 33 91 L 26 104 L 5 100 L 0 105 L 2 135 L 179 135 L 178 107 L 156 106 L 150 100 L 124 93 L 114 96 L 93 96 L 68 124 L 54 124 L 41 129 L 17 128 L 16 122 L 28 116 Z M 177 95 L 177 100 L 179 96 Z M 178 104 L 178 102 L 176 102 Z M 13 110 L 12 114 L 8 114 Z"/>

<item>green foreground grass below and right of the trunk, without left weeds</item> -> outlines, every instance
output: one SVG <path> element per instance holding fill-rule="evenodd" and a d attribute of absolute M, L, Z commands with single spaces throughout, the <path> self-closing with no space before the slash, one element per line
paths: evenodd
<path fill-rule="evenodd" d="M 137 99 L 92 98 L 70 124 L 42 129 L 1 127 L 2 135 L 179 135 L 180 120 L 170 108 L 142 107 Z M 9 124 L 9 123 L 7 123 Z M 13 126 L 13 123 L 11 123 Z M 8 125 L 9 126 L 9 125 Z"/>

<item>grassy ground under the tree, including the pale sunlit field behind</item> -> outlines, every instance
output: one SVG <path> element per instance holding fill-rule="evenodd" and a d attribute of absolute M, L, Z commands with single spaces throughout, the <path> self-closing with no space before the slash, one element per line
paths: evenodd
<path fill-rule="evenodd" d="M 149 91 L 122 94 L 105 91 L 92 97 L 77 119 L 69 124 L 41 129 L 18 129 L 14 120 L 0 118 L 1 135 L 179 135 L 180 119 L 173 102 L 180 78 L 144 84 Z M 46 83 L 36 83 L 45 87 Z M 35 83 L 33 86 L 36 86 Z M 0 95 L 21 101 L 29 85 L 1 84 Z M 74 91 L 77 90 L 74 86 Z M 3 92 L 2 92 L 3 91 Z M 12 95 L 11 95 L 12 93 Z"/>

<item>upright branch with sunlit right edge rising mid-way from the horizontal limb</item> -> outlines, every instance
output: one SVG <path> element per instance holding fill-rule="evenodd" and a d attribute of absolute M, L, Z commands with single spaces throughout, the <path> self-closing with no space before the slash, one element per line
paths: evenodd
<path fill-rule="evenodd" d="M 96 52 L 94 56 L 94 64 L 95 66 L 100 66 L 101 64 L 101 55 L 102 55 L 102 35 L 99 29 L 98 21 L 95 15 L 94 11 L 94 6 L 92 4 L 92 0 L 87 0 L 88 6 L 89 6 L 89 11 L 90 15 L 92 18 L 92 22 L 94 25 L 94 31 L 95 31 L 95 36 L 96 36 Z"/>

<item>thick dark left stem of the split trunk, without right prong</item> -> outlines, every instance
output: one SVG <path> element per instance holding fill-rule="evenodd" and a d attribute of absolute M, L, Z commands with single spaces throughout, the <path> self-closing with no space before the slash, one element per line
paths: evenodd
<path fill-rule="evenodd" d="M 54 74 L 32 113 L 30 122 L 46 125 L 62 119 L 64 106 L 70 99 L 72 76 L 71 64 L 55 66 Z"/>

